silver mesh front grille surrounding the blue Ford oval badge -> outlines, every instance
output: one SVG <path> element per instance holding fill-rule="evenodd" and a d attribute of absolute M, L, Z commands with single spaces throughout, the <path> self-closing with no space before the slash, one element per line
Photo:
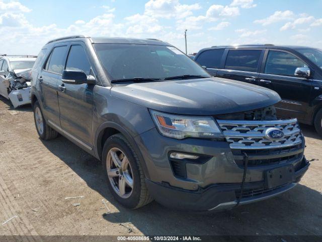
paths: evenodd
<path fill-rule="evenodd" d="M 218 120 L 231 149 L 271 149 L 294 146 L 302 143 L 297 119 L 288 120 Z M 270 140 L 265 132 L 269 128 L 277 128 L 284 133 L 279 140 Z"/>

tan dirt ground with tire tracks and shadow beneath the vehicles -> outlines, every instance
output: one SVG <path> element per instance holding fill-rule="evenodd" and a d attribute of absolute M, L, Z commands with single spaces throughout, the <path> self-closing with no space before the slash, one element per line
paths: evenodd
<path fill-rule="evenodd" d="M 306 158 L 320 161 L 278 197 L 206 215 L 156 202 L 129 210 L 107 190 L 100 161 L 62 136 L 41 141 L 31 107 L 0 98 L 0 235 L 322 235 L 322 139 L 301 127 Z"/>

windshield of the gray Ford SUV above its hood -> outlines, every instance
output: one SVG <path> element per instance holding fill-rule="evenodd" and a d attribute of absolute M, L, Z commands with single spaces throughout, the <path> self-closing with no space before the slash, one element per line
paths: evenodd
<path fill-rule="evenodd" d="M 94 44 L 94 47 L 111 80 L 164 80 L 183 75 L 210 77 L 202 67 L 173 46 Z"/>

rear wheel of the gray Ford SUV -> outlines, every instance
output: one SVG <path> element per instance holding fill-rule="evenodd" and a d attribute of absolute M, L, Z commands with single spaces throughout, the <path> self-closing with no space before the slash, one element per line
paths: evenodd
<path fill-rule="evenodd" d="M 51 127 L 47 125 L 38 101 L 34 103 L 33 109 L 34 109 L 34 119 L 35 119 L 36 130 L 39 137 L 42 140 L 51 140 L 56 138 L 58 136 L 58 133 L 57 131 L 53 130 Z"/>

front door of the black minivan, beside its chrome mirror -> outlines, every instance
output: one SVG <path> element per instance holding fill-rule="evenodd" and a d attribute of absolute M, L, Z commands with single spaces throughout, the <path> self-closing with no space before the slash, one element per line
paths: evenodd
<path fill-rule="evenodd" d="M 269 49 L 265 53 L 259 83 L 276 91 L 282 98 L 275 105 L 279 116 L 303 120 L 309 105 L 312 79 L 296 77 L 294 72 L 298 67 L 308 65 L 293 53 Z"/>

